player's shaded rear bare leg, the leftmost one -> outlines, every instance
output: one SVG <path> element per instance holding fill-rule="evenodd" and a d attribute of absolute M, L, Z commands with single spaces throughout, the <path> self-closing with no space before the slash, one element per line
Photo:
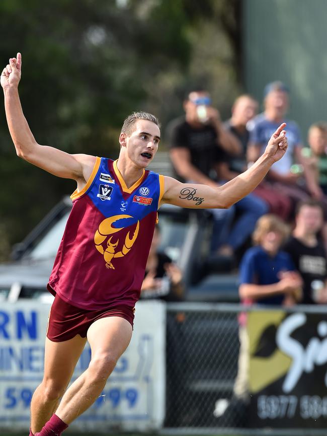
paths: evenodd
<path fill-rule="evenodd" d="M 76 335 L 64 342 L 46 338 L 44 377 L 31 402 L 31 429 L 40 431 L 58 406 L 87 339 Z"/>

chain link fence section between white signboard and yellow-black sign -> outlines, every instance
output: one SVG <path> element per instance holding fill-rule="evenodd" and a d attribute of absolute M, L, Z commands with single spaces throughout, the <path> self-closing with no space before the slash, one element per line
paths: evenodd
<path fill-rule="evenodd" d="M 242 426 L 230 407 L 238 350 L 236 312 L 169 307 L 165 426 Z"/>

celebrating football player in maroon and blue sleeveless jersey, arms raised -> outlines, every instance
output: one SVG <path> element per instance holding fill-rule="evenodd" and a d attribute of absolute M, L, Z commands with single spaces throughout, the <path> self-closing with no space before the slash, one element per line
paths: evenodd
<path fill-rule="evenodd" d="M 77 183 L 49 279 L 55 300 L 45 343 L 44 378 L 31 403 L 30 434 L 53 436 L 94 403 L 129 344 L 160 204 L 231 206 L 248 195 L 285 154 L 286 124 L 278 127 L 256 164 L 225 185 L 183 184 L 145 170 L 160 140 L 157 119 L 145 112 L 126 118 L 114 162 L 38 144 L 19 99 L 21 69 L 18 53 L 1 75 L 17 155 Z M 92 350 L 89 368 L 66 390 L 86 340 Z"/>

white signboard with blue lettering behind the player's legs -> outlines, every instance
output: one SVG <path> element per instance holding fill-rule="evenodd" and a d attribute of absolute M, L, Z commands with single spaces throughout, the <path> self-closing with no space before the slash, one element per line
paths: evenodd
<path fill-rule="evenodd" d="M 50 306 L 32 301 L 0 307 L 0 429 L 27 430 L 32 394 L 42 380 L 44 338 Z M 149 430 L 165 416 L 165 304 L 136 305 L 131 343 L 95 404 L 70 428 L 105 432 Z M 89 365 L 88 344 L 72 381 Z"/>

